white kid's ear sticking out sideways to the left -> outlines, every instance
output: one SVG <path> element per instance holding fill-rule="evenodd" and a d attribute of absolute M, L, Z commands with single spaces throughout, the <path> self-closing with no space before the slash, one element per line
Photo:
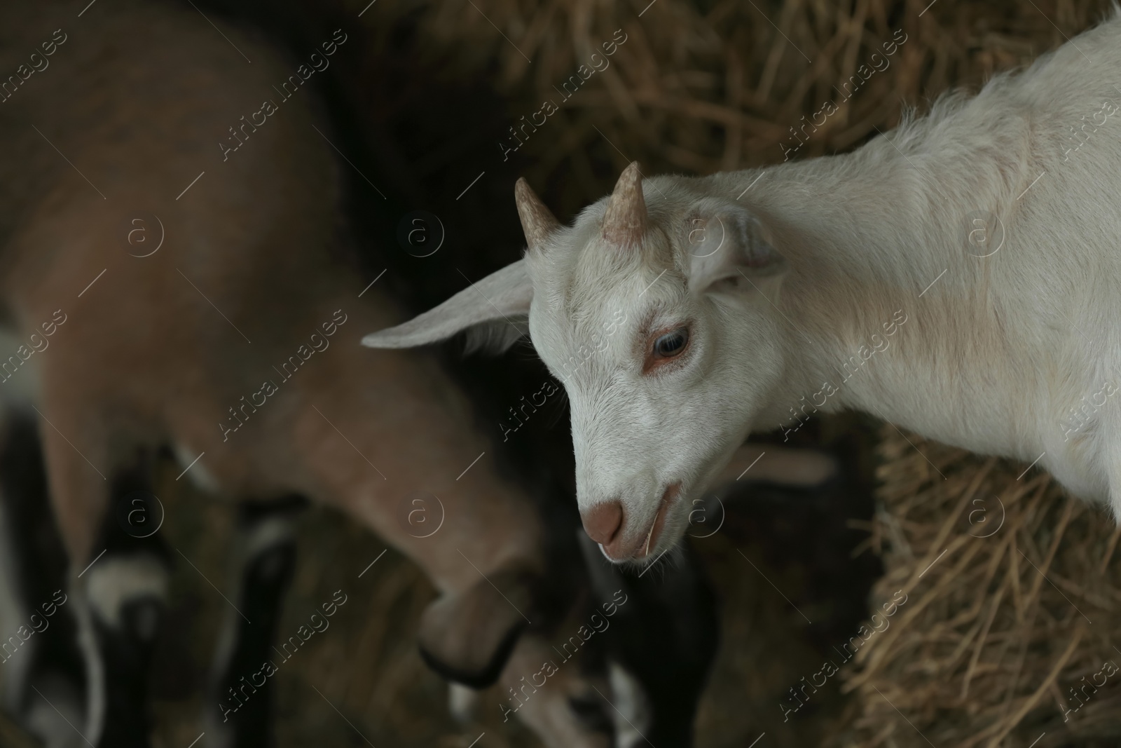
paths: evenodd
<path fill-rule="evenodd" d="M 473 283 L 439 306 L 396 327 L 362 339 L 370 348 L 415 348 L 467 330 L 467 347 L 506 350 L 529 327 L 529 303 L 534 285 L 526 260 L 511 262 Z"/>

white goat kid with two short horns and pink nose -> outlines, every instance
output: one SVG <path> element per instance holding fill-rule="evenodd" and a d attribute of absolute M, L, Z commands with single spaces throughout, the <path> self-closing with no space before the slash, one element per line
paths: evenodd
<path fill-rule="evenodd" d="M 528 316 L 572 401 L 584 526 L 618 561 L 671 546 L 745 435 L 807 407 L 1037 461 L 1121 515 L 1121 140 L 1069 139 L 1121 128 L 1096 121 L 1114 84 L 1117 18 L 851 154 L 631 164 L 572 228 L 521 181 L 525 259 L 363 342 Z M 980 251 L 980 225 L 1002 242 Z"/>

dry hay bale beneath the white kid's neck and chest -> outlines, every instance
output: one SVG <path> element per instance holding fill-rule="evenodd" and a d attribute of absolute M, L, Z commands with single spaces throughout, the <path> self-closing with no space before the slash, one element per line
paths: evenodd
<path fill-rule="evenodd" d="M 837 745 L 1117 745 L 1121 674 L 1094 674 L 1121 663 L 1121 528 L 1046 473 L 909 438 L 884 427 L 870 538 L 873 600 L 909 599 L 843 674 Z"/>

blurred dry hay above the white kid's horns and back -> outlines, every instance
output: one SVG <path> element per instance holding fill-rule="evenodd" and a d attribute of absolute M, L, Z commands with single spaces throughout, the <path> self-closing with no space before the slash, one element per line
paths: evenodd
<path fill-rule="evenodd" d="M 417 52 L 456 76 L 490 77 L 511 102 L 511 126 L 543 101 L 559 105 L 521 155 L 528 156 L 526 176 L 553 183 L 575 210 L 636 158 L 647 173 L 782 161 L 798 142 L 794 129 L 826 100 L 839 111 L 816 132 L 805 130 L 797 157 L 852 148 L 895 126 L 905 103 L 923 108 L 952 86 L 976 87 L 995 72 L 1030 63 L 1108 8 L 1100 0 L 930 4 L 448 0 L 421 15 Z M 378 8 L 385 16 L 378 21 L 371 13 L 369 22 L 416 6 L 383 0 Z M 565 100 L 563 83 L 617 29 L 627 41 L 610 65 Z M 899 29 L 906 40 L 887 66 L 855 92 L 851 85 L 840 91 L 861 66 L 883 65 L 872 54 L 882 55 Z"/>

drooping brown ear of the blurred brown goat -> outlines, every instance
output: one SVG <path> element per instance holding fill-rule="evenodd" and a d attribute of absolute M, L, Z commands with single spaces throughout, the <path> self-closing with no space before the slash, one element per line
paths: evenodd
<path fill-rule="evenodd" d="M 532 604 L 531 576 L 504 571 L 445 594 L 420 617 L 420 657 L 448 681 L 485 689 L 506 666 Z M 493 584 L 491 584 L 493 582 Z M 517 607 L 517 609 L 515 609 Z"/>

